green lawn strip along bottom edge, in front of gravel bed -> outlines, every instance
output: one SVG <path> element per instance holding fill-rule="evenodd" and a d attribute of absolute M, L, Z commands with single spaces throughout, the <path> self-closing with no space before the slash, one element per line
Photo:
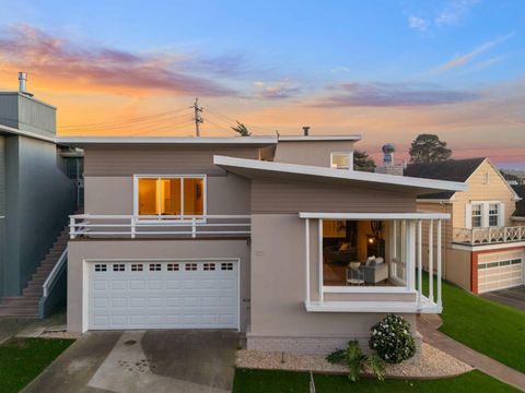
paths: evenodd
<path fill-rule="evenodd" d="M 439 380 L 386 380 L 363 379 L 350 382 L 346 376 L 314 374 L 316 393 L 374 393 L 374 392 L 518 392 L 479 371 Z M 306 372 L 266 371 L 237 369 L 233 393 L 304 393 L 308 391 Z"/>

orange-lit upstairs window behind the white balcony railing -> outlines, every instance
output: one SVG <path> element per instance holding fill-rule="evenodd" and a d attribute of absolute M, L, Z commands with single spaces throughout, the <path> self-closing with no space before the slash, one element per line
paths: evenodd
<path fill-rule="evenodd" d="M 203 176 L 137 177 L 139 215 L 179 216 L 205 214 Z"/>

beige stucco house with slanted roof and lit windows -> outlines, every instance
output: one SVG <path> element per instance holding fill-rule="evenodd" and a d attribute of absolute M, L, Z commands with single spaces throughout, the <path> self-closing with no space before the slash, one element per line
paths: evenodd
<path fill-rule="evenodd" d="M 359 139 L 61 138 L 85 159 L 68 329 L 234 329 L 248 348 L 326 353 L 387 313 L 441 312 L 418 234 L 432 219 L 439 243 L 450 213 L 417 195 L 466 186 L 355 171 Z"/>

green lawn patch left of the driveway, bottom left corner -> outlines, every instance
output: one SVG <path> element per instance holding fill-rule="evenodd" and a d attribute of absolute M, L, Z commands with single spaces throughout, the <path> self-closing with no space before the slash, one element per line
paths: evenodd
<path fill-rule="evenodd" d="M 20 392 L 74 340 L 11 338 L 0 345 L 0 391 Z"/>

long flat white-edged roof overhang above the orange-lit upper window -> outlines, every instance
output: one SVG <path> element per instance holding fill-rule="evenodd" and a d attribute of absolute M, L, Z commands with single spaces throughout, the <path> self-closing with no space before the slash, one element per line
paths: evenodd
<path fill-rule="evenodd" d="M 75 146 L 144 146 L 144 145 L 249 145 L 277 144 L 277 136 L 57 136 L 57 143 Z"/>

